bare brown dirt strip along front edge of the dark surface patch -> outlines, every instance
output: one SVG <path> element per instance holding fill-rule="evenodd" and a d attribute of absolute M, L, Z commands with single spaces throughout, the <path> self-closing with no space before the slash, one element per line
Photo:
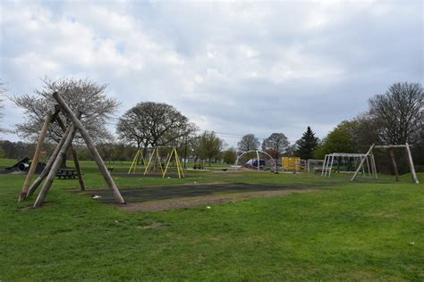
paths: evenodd
<path fill-rule="evenodd" d="M 316 189 L 284 189 L 276 191 L 245 192 L 239 194 L 185 197 L 145 203 L 127 203 L 125 205 L 116 204 L 115 206 L 123 211 L 168 211 L 200 205 L 235 203 L 254 198 L 269 198 L 291 194 L 313 193 L 317 191 L 318 190 Z"/>

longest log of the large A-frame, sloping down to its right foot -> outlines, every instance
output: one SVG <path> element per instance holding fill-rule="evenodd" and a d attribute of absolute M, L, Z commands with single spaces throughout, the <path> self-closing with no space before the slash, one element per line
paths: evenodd
<path fill-rule="evenodd" d="M 114 201 L 116 203 L 125 203 L 125 201 L 123 200 L 123 196 L 118 190 L 118 187 L 116 187 L 116 185 L 114 184 L 114 179 L 110 176 L 110 173 L 107 170 L 105 163 L 100 157 L 100 154 L 98 153 L 98 149 L 96 149 L 96 146 L 91 141 L 91 138 L 89 137 L 89 133 L 87 133 L 87 130 L 84 128 L 81 121 L 77 119 L 75 114 L 72 112 L 71 108 L 66 103 L 64 103 L 64 100 L 57 92 L 53 94 L 53 97 L 55 98 L 57 103 L 61 105 L 62 110 L 64 110 L 64 112 L 68 115 L 68 117 L 71 118 L 71 120 L 75 124 L 75 127 L 80 131 L 82 138 L 84 138 L 85 143 L 89 147 L 89 151 L 91 152 L 96 163 L 98 164 L 98 169 L 102 173 L 103 178 L 105 178 L 107 185 L 110 187 L 110 189 L 112 190 L 114 194 Z"/>

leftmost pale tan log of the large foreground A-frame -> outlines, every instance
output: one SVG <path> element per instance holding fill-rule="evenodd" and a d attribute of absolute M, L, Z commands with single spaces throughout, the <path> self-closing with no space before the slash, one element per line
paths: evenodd
<path fill-rule="evenodd" d="M 47 135 L 48 125 L 53 120 L 57 112 L 59 112 L 59 110 L 55 109 L 55 112 L 47 113 L 47 116 L 44 119 L 44 124 L 39 133 L 38 143 L 37 143 L 34 156 L 32 158 L 30 170 L 28 171 L 27 177 L 25 178 L 25 182 L 23 183 L 22 192 L 21 192 L 21 195 L 19 196 L 18 202 L 21 202 L 22 200 L 24 200 L 28 195 L 28 190 L 30 189 L 30 182 L 32 177 L 34 176 L 35 170 L 37 169 L 39 154 L 41 153 L 41 149 L 43 147 L 44 138 Z"/>

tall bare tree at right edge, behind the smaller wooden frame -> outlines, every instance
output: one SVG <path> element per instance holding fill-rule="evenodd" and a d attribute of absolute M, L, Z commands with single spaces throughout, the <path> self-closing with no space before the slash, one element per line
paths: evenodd
<path fill-rule="evenodd" d="M 369 116 L 387 144 L 414 143 L 424 123 L 424 90 L 418 83 L 395 83 L 369 100 Z"/>

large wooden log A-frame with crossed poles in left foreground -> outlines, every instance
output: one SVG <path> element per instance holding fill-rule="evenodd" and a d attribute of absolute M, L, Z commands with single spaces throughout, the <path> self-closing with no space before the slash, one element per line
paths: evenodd
<path fill-rule="evenodd" d="M 94 160 L 98 164 L 98 169 L 100 170 L 103 177 L 105 178 L 108 187 L 112 190 L 114 194 L 114 201 L 116 203 L 125 203 L 125 201 L 123 200 L 123 196 L 119 192 L 118 187 L 116 187 L 114 183 L 114 179 L 111 177 L 109 171 L 107 170 L 106 165 L 103 162 L 100 154 L 98 153 L 96 146 L 94 145 L 93 141 L 89 137 L 87 130 L 84 128 L 81 121 L 79 120 L 79 118 L 81 117 L 81 113 L 79 113 L 77 117 L 75 113 L 72 112 L 71 108 L 64 102 L 62 97 L 57 92 L 55 92 L 52 96 L 58 104 L 55 105 L 54 111 L 47 113 L 43 127 L 38 137 L 38 144 L 36 147 L 36 151 L 34 153 L 34 157 L 31 162 L 30 170 L 27 174 L 27 177 L 25 178 L 25 182 L 22 187 L 19 201 L 22 201 L 28 196 L 32 195 L 36 191 L 37 187 L 43 182 L 43 180 L 46 179 L 46 181 L 43 184 L 43 187 L 41 187 L 37 200 L 35 201 L 33 206 L 36 208 L 36 207 L 40 207 L 43 204 L 47 196 L 48 190 L 50 189 L 50 187 L 53 184 L 53 181 L 55 180 L 56 171 L 59 169 L 60 165 L 66 158 L 66 153 L 68 152 L 69 149 L 71 149 L 72 151 L 72 157 L 75 163 L 75 169 L 77 170 L 77 173 L 78 173 L 78 179 L 80 182 L 81 190 L 85 190 L 84 180 L 82 178 L 82 173 L 81 173 L 80 162 L 78 160 L 76 150 L 72 146 L 73 137 L 75 137 L 76 131 L 78 130 L 81 134 L 81 137 L 84 139 L 86 145 L 88 146 L 89 151 L 92 154 Z M 68 126 L 68 128 L 65 127 L 64 121 L 61 120 L 59 117 L 60 111 L 63 111 L 67 115 L 67 117 L 70 120 L 72 120 L 72 123 Z M 34 176 L 35 168 L 38 163 L 38 158 L 41 152 L 44 138 L 47 135 L 48 126 L 51 122 L 54 122 L 55 120 L 58 122 L 59 126 L 64 131 L 64 135 L 60 143 L 55 147 L 55 151 L 52 153 L 52 156 L 48 160 L 46 164 L 46 168 L 41 172 L 38 178 L 30 186 L 31 179 Z"/>

